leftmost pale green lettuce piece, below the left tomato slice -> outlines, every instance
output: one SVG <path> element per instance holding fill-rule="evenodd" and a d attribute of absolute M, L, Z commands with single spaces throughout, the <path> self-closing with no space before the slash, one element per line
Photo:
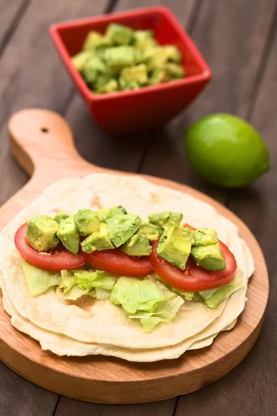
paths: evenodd
<path fill-rule="evenodd" d="M 22 268 L 31 296 L 41 295 L 47 291 L 48 288 L 60 284 L 60 273 L 52 273 L 48 272 L 48 270 L 42 270 L 30 265 L 25 260 L 22 260 Z"/>

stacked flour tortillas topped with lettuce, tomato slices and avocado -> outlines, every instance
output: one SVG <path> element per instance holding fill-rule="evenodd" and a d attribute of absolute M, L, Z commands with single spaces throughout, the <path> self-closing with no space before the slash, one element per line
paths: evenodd
<path fill-rule="evenodd" d="M 12 325 L 59 356 L 177 358 L 243 311 L 253 259 L 211 205 L 134 176 L 56 182 L 3 229 Z"/>

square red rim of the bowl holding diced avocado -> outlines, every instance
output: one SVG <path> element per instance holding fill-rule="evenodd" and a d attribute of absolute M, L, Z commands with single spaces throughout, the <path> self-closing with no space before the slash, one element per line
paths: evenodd
<path fill-rule="evenodd" d="M 83 24 L 89 24 L 89 23 L 96 23 L 99 21 L 110 21 L 111 17 L 114 17 L 115 19 L 118 19 L 120 17 L 139 17 L 143 15 L 150 15 L 150 14 L 156 14 L 160 13 L 161 15 L 166 15 L 167 19 L 170 21 L 170 24 L 172 26 L 175 26 L 175 29 L 178 31 L 179 37 L 182 40 L 182 42 L 186 43 L 186 47 L 190 49 L 190 52 L 194 55 L 195 59 L 197 60 L 197 64 L 202 69 L 202 73 L 198 75 L 188 76 L 186 78 L 183 78 L 181 80 L 175 80 L 174 82 L 168 82 L 163 83 L 159 85 L 149 85 L 147 87 L 143 87 L 141 89 L 132 89 L 127 91 L 118 91 L 118 92 L 109 92 L 106 94 L 94 94 L 87 84 L 84 82 L 84 79 L 82 76 L 80 76 L 80 73 L 73 67 L 73 64 L 71 62 L 71 57 L 66 49 L 66 46 L 64 46 L 64 42 L 62 42 L 62 39 L 60 37 L 59 30 L 61 28 L 68 28 L 69 26 L 80 26 Z M 190 35 L 185 31 L 184 28 L 182 28 L 181 24 L 173 15 L 170 9 L 168 9 L 166 6 L 152 6 L 152 7 L 146 7 L 146 8 L 137 8 L 134 10 L 125 10 L 123 12 L 114 12 L 114 13 L 108 13 L 107 15 L 99 15 L 96 17 L 86 17 L 84 19 L 75 19 L 75 20 L 69 20 L 69 21 L 63 21 L 61 23 L 52 24 L 49 27 L 49 33 L 51 35 L 51 38 L 53 40 L 53 43 L 55 44 L 55 47 L 57 51 L 60 53 L 60 56 L 66 65 L 67 69 L 71 73 L 71 77 L 77 84 L 78 88 L 84 95 L 84 97 L 88 101 L 105 101 L 107 99 L 114 99 L 114 98 L 120 98 L 123 96 L 140 96 L 143 94 L 150 94 L 155 93 L 161 90 L 166 89 L 176 89 L 178 87 L 181 87 L 183 85 L 190 85 L 190 84 L 197 84 L 202 83 L 203 81 L 208 81 L 212 78 L 211 69 L 208 67 L 208 64 L 202 57 L 201 53 L 198 51 L 197 46 L 193 43 L 193 40 L 190 38 Z"/>

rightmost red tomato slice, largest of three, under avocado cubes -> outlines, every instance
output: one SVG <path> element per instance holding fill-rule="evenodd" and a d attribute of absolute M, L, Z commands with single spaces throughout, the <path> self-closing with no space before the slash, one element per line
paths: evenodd
<path fill-rule="evenodd" d="M 186 224 L 186 227 L 188 227 L 188 224 Z M 193 227 L 190 227 L 190 229 L 193 229 Z M 229 284 L 233 279 L 237 263 L 229 248 L 222 241 L 220 241 L 220 248 L 226 263 L 226 269 L 219 272 L 209 271 L 202 266 L 197 266 L 192 256 L 188 257 L 186 269 L 184 271 L 180 270 L 157 254 L 158 245 L 159 240 L 152 245 L 150 263 L 163 281 L 181 291 L 200 292 L 215 289 Z"/>

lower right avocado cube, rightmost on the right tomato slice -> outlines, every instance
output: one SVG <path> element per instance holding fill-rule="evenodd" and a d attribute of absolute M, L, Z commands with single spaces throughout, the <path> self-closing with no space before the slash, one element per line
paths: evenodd
<path fill-rule="evenodd" d="M 219 243 L 193 247 L 191 255 L 198 266 L 202 266 L 207 270 L 219 271 L 226 268 Z"/>

